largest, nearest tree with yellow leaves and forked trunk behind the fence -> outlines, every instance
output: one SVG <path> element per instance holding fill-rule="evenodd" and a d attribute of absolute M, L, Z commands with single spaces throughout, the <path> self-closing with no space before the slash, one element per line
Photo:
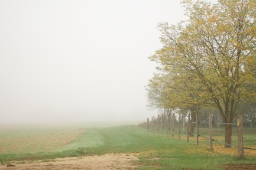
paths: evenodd
<path fill-rule="evenodd" d="M 180 79 L 190 76 L 187 84 L 202 87 L 198 96 L 208 96 L 223 122 L 232 123 L 239 101 L 255 99 L 256 3 L 184 0 L 182 4 L 189 20 L 159 24 L 163 48 L 150 58 Z M 225 143 L 231 144 L 231 136 L 232 125 L 225 125 Z"/>

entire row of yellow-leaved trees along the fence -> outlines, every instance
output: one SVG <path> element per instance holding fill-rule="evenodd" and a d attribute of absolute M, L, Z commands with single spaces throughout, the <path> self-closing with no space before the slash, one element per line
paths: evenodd
<path fill-rule="evenodd" d="M 239 103 L 256 98 L 256 3 L 182 4 L 187 21 L 158 24 L 163 47 L 149 57 L 158 72 L 146 87 L 148 107 L 190 110 L 192 122 L 199 110 L 215 107 L 223 122 L 232 123 Z M 231 137 L 227 124 L 225 143 L 231 144 Z"/>

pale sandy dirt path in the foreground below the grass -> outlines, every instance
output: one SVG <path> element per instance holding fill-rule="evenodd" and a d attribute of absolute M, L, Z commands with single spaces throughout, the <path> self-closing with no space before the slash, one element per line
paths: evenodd
<path fill-rule="evenodd" d="M 0 165 L 0 169 L 134 169 L 132 161 L 138 160 L 135 154 L 106 154 L 81 158 L 59 158 L 55 162 L 33 162 L 31 164 Z"/>

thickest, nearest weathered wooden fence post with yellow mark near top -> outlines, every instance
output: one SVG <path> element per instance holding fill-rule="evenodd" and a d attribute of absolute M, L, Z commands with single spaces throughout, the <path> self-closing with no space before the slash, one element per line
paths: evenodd
<path fill-rule="evenodd" d="M 242 136 L 242 126 L 243 126 L 243 117 L 242 115 L 238 115 L 237 119 L 237 141 L 238 141 L 238 156 L 239 158 L 244 158 L 244 140 Z"/>

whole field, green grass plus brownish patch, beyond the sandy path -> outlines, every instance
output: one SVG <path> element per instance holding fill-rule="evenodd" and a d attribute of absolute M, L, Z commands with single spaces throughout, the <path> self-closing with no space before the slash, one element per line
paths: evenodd
<path fill-rule="evenodd" d="M 179 141 L 177 134 L 166 136 L 135 125 L 99 126 L 103 125 L 1 128 L 1 164 L 106 153 L 137 153 L 139 161 L 134 164 L 139 165 L 138 169 L 223 169 L 223 164 L 256 163 L 255 151 L 245 151 L 245 159 L 241 160 L 236 148 L 224 149 L 219 143 L 214 143 L 214 151 L 209 151 L 206 139 L 200 139 L 197 146 L 195 137 L 187 143 L 186 135 Z M 200 130 L 202 135 L 207 135 L 207 128 Z M 223 134 L 215 132 L 213 136 L 221 139 Z M 255 137 L 253 133 L 246 134 L 245 145 L 256 148 Z"/>

